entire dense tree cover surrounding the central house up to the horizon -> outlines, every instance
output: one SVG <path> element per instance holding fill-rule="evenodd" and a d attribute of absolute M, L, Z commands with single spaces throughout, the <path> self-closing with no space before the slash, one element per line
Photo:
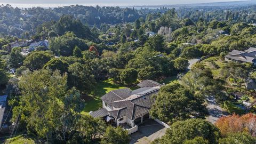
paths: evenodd
<path fill-rule="evenodd" d="M 256 47 L 255 7 L 2 5 L 0 94 L 8 95 L 10 108 L 5 124 L 18 122 L 13 131 L 34 143 L 129 143 L 127 131 L 89 115 L 106 94 L 99 87 L 109 82 L 111 90 L 134 89 L 145 79 L 175 77 L 150 109 L 153 118 L 170 125 L 153 143 L 253 144 L 254 114 L 230 115 L 213 125 L 205 121 L 205 103 L 209 95 L 218 103 L 232 99 L 223 87 L 226 79 L 253 78 L 254 66 L 223 59 L 232 50 Z M 196 63 L 188 72 L 188 60 L 207 55 L 225 66 L 212 60 L 210 68 Z M 233 118 L 237 123 L 229 123 Z"/>

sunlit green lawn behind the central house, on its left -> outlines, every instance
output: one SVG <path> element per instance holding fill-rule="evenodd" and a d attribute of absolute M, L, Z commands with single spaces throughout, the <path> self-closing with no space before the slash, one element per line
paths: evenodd
<path fill-rule="evenodd" d="M 111 79 L 108 79 L 106 81 L 98 82 L 95 86 L 94 91 L 90 95 L 90 99 L 85 101 L 85 107 L 82 111 L 82 114 L 88 114 L 90 111 L 94 111 L 102 107 L 101 99 L 104 94 L 117 90 L 117 89 L 124 89 L 126 87 L 115 84 L 111 81 Z"/>

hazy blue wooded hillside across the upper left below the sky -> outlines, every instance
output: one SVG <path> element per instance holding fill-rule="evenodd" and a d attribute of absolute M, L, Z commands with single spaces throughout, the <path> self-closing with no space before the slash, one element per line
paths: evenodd
<path fill-rule="evenodd" d="M 71 5 L 65 7 L 56 7 L 54 9 L 44 9 L 42 7 L 33 7 L 19 9 L 11 5 L 1 5 L 1 35 L 25 36 L 28 31 L 30 35 L 35 34 L 36 27 L 46 21 L 57 21 L 61 15 L 73 15 L 75 19 L 80 20 L 83 24 L 97 25 L 102 23 L 116 24 L 123 22 L 133 22 L 142 17 L 145 18 L 147 13 L 165 12 L 166 8 L 158 10 L 136 10 L 121 9 L 120 7 L 100 7 L 100 6 L 81 6 Z"/>

